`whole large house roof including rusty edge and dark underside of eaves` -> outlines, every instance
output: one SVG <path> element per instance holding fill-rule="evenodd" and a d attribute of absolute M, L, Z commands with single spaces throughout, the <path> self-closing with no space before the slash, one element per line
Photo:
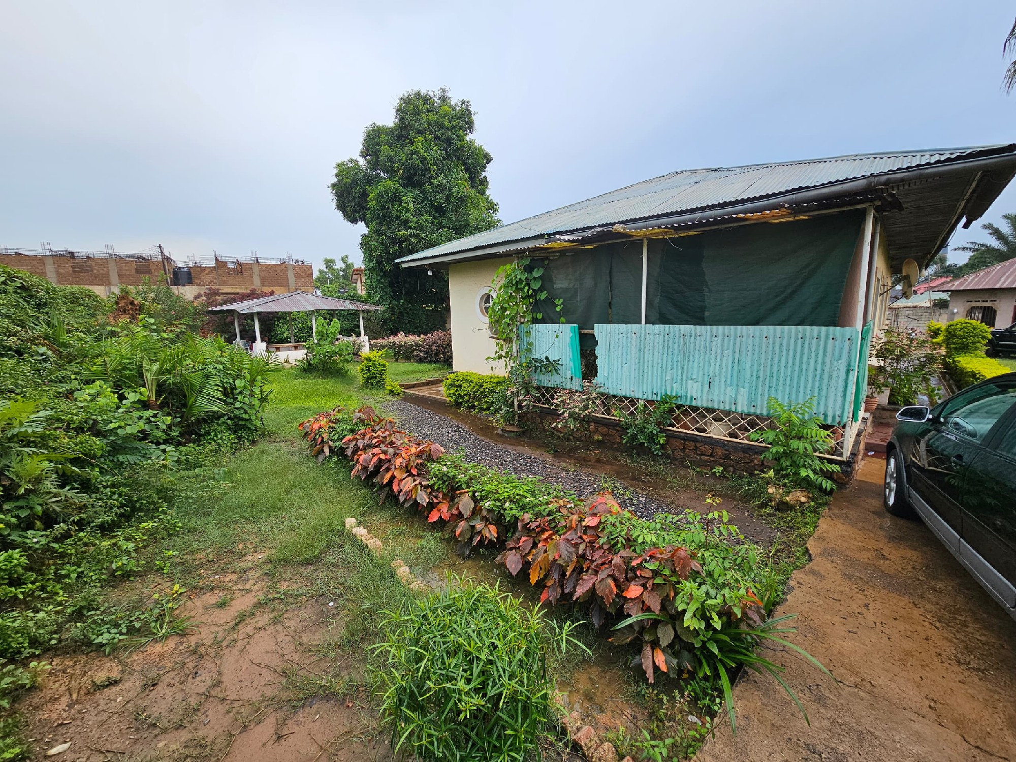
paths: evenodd
<path fill-rule="evenodd" d="M 612 237 L 668 237 L 872 203 L 886 212 L 890 259 L 898 269 L 906 258 L 927 262 L 964 217 L 968 227 L 988 209 L 1014 174 L 1016 144 L 677 172 L 397 261 L 403 267 L 445 267 Z"/>

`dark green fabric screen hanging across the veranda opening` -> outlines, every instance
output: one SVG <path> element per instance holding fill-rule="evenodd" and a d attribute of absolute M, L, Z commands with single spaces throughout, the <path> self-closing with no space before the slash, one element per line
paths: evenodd
<path fill-rule="evenodd" d="M 836 325 L 864 210 L 648 242 L 646 322 Z M 544 317 L 582 329 L 642 321 L 642 242 L 562 253 L 545 268 Z M 554 310 L 553 299 L 564 302 Z"/>

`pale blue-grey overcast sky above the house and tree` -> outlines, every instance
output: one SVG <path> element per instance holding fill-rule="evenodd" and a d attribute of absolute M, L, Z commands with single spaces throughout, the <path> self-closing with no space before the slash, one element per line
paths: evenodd
<path fill-rule="evenodd" d="M 1014 13 L 0 0 L 0 245 L 359 262 L 333 167 L 414 88 L 472 102 L 506 223 L 679 169 L 1016 141 Z"/>

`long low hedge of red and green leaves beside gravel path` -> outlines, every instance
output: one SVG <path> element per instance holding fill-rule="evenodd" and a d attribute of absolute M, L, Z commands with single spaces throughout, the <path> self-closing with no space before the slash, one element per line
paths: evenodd
<path fill-rule="evenodd" d="M 336 408 L 302 425 L 319 457 L 336 450 L 343 427 L 315 422 L 346 416 Z M 597 628 L 624 618 L 614 642 L 639 642 L 636 661 L 649 682 L 658 671 L 716 675 L 726 646 L 765 620 L 771 569 L 724 512 L 643 520 L 607 492 L 582 503 L 538 480 L 447 456 L 371 408 L 356 424 L 364 428 L 341 445 L 354 477 L 444 523 L 460 551 L 501 550 L 498 562 L 513 575 L 527 570 L 543 601 L 580 606 Z"/>

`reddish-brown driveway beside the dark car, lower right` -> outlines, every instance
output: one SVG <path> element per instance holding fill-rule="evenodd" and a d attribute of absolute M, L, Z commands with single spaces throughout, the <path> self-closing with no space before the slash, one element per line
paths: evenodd
<path fill-rule="evenodd" d="M 717 731 L 700 762 L 1016 760 L 1016 622 L 923 523 L 883 510 L 883 468 L 869 458 L 833 500 L 781 608 L 841 683 L 770 652 L 811 726 L 749 673 L 734 693 L 737 736 Z"/>

